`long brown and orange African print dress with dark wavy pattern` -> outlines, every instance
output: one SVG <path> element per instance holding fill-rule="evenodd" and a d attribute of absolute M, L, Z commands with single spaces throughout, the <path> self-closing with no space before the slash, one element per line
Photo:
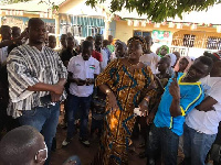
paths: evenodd
<path fill-rule="evenodd" d="M 135 123 L 134 108 L 138 107 L 147 92 L 148 96 L 155 92 L 150 90 L 154 75 L 149 67 L 131 73 L 122 61 L 112 62 L 96 79 L 96 86 L 107 85 L 112 89 L 119 110 L 114 112 L 106 108 L 101 151 L 94 165 L 128 164 L 128 145 Z"/>

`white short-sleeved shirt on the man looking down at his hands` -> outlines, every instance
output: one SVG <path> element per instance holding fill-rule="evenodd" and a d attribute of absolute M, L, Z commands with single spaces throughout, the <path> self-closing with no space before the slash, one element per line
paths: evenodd
<path fill-rule="evenodd" d="M 74 56 L 70 59 L 67 70 L 73 74 L 72 78 L 94 78 L 94 75 L 99 74 L 99 62 L 94 57 L 90 57 L 88 61 L 84 61 L 82 55 Z M 71 82 L 70 92 L 77 97 L 88 97 L 93 94 L 94 85 L 77 86 L 75 82 Z"/>

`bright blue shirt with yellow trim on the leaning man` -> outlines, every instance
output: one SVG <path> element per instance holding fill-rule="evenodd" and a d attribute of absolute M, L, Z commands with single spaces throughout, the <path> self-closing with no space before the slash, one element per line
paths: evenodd
<path fill-rule="evenodd" d="M 172 102 L 172 96 L 169 92 L 169 86 L 172 79 L 169 79 L 168 85 L 165 88 L 165 92 L 161 97 L 161 101 L 158 107 L 154 123 L 157 128 L 169 128 L 177 135 L 183 133 L 185 117 L 204 98 L 204 92 L 201 87 L 201 82 L 181 82 L 185 74 L 179 74 L 177 77 L 178 85 L 180 87 L 180 109 L 181 116 L 171 117 L 170 106 Z"/>

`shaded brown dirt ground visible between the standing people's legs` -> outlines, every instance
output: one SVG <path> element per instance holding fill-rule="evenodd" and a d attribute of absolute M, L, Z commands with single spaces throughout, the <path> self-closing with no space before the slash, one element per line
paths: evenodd
<path fill-rule="evenodd" d="M 66 130 L 57 128 L 57 135 L 56 135 L 56 151 L 52 152 L 51 165 L 62 165 L 62 163 L 72 155 L 77 155 L 81 161 L 82 165 L 90 165 L 94 158 L 94 155 L 98 151 L 98 139 L 94 138 L 91 139 L 91 146 L 85 147 L 78 141 L 78 136 L 75 135 L 72 143 L 66 147 L 62 147 L 62 141 L 65 139 Z M 129 165 L 145 165 L 146 158 L 140 160 L 138 157 L 138 153 L 143 150 L 136 147 L 141 141 L 134 141 L 135 146 L 134 152 L 129 153 Z"/>

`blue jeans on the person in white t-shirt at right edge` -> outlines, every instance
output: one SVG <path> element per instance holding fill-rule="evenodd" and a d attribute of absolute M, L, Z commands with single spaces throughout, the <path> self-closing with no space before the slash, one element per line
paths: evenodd
<path fill-rule="evenodd" d="M 208 152 L 210 151 L 217 134 L 204 134 L 185 124 L 185 164 L 204 165 Z"/>

